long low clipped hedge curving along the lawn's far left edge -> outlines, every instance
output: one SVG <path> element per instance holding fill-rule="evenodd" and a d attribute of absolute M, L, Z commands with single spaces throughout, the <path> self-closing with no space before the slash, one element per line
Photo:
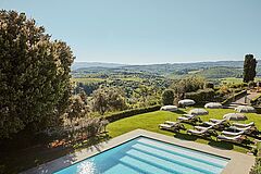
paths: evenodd
<path fill-rule="evenodd" d="M 152 105 L 152 107 L 140 108 L 140 109 L 132 109 L 132 110 L 126 110 L 126 111 L 107 115 L 105 119 L 111 123 L 124 117 L 129 117 L 129 116 L 141 114 L 141 113 L 158 111 L 160 110 L 160 108 L 161 105 Z"/>

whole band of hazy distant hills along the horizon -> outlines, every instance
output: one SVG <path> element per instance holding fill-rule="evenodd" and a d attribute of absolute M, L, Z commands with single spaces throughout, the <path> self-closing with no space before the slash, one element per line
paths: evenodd
<path fill-rule="evenodd" d="M 190 72 L 207 78 L 237 77 L 241 75 L 244 61 L 217 61 L 195 63 L 165 63 L 147 65 L 126 65 L 117 63 L 75 62 L 74 73 L 149 73 L 154 75 L 186 75 Z M 258 60 L 257 75 L 261 75 L 261 60 Z"/>

